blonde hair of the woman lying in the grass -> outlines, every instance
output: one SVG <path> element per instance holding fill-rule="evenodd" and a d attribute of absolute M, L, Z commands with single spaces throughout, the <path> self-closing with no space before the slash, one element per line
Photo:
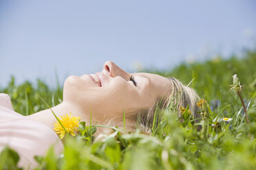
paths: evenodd
<path fill-rule="evenodd" d="M 198 114 L 198 106 L 196 106 L 199 99 L 198 93 L 196 93 L 193 88 L 184 86 L 184 84 L 174 77 L 167 77 L 167 79 L 171 82 L 169 95 L 164 99 L 158 99 L 150 108 L 139 110 L 136 117 L 134 117 L 137 127 L 144 133 L 151 133 L 153 119 L 155 114 L 158 114 L 156 110 L 172 108 L 178 113 L 178 117 L 182 117 L 180 107 L 186 108 L 189 106 L 189 110 L 193 114 L 195 122 L 197 122 L 200 117 L 200 114 Z M 158 119 L 160 119 L 159 116 L 160 115 L 157 115 L 155 123 L 158 123 Z"/>

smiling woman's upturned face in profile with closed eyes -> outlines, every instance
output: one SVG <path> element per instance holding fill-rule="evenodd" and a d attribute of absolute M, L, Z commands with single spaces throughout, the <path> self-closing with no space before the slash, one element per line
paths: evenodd
<path fill-rule="evenodd" d="M 171 82 L 165 77 L 151 73 L 127 73 L 114 62 L 107 61 L 101 72 L 67 77 L 63 101 L 107 118 L 122 115 L 123 111 L 131 114 L 140 108 L 149 108 L 170 89 Z"/>

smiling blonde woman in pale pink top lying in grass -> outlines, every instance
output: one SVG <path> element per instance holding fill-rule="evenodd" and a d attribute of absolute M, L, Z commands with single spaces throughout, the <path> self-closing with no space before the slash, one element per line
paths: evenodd
<path fill-rule="evenodd" d="M 127 132 L 137 127 L 147 134 L 151 133 L 156 108 L 171 106 L 181 116 L 180 109 L 189 107 L 193 117 L 199 117 L 195 105 L 198 95 L 192 88 L 173 77 L 127 73 L 110 61 L 105 62 L 101 72 L 67 77 L 63 102 L 28 117 L 12 110 L 8 95 L 1 97 L 0 130 L 3 133 L 0 134 L 0 150 L 4 145 L 9 145 L 18 151 L 21 156 L 19 163 L 25 167 L 36 165 L 33 156 L 43 156 L 51 145 L 54 145 L 56 154 L 61 153 L 63 145 L 53 128 L 56 117 L 65 114 L 79 117 L 74 121 L 92 121 L 93 125 L 118 126 L 121 129 L 125 114 Z M 98 129 L 96 135 L 107 134 L 107 130 Z"/>

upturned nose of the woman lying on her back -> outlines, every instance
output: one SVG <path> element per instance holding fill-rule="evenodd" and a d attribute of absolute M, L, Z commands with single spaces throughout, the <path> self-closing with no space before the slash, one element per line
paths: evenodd
<path fill-rule="evenodd" d="M 117 66 L 114 62 L 107 61 L 103 66 L 103 71 L 107 72 L 110 77 L 121 76 L 125 80 L 129 80 L 130 74 L 126 71 L 122 70 L 119 66 Z"/>

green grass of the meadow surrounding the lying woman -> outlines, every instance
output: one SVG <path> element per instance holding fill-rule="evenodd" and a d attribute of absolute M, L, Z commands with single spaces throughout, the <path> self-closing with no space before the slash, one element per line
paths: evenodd
<path fill-rule="evenodd" d="M 39 169 L 256 169 L 255 64 L 256 51 L 246 51 L 244 58 L 220 57 L 181 64 L 172 71 L 154 71 L 184 84 L 195 78 L 190 86 L 208 102 L 202 110 L 202 130 L 197 130 L 189 114 L 183 114 L 185 121 L 180 123 L 171 110 L 162 110 L 163 117 L 151 136 L 115 130 L 105 141 L 93 143 L 95 127 L 88 122 L 89 126 L 80 128 L 83 137 L 65 139 L 62 158 L 56 158 L 52 149 L 45 158 L 37 157 Z M 250 124 L 245 121 L 239 97 L 229 90 L 234 74 L 244 85 L 242 97 Z M 63 93 L 60 86 L 50 89 L 41 80 L 36 86 L 30 82 L 17 85 L 14 77 L 0 92 L 10 95 L 14 110 L 24 115 L 47 108 L 40 97 L 54 106 L 61 102 Z M 220 121 L 223 117 L 233 120 Z M 15 167 L 17 159 L 14 151 L 5 149 L 0 169 Z"/>

